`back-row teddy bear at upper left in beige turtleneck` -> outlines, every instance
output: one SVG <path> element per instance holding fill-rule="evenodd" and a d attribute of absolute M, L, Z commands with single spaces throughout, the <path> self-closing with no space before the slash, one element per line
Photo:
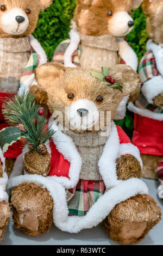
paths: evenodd
<path fill-rule="evenodd" d="M 0 130 L 8 126 L 2 114 L 7 97 L 35 84 L 34 69 L 47 62 L 40 43 L 32 36 L 40 10 L 52 0 L 4 0 L 0 5 Z M 4 154 L 7 169 L 11 170 L 22 148 L 17 142 Z"/>

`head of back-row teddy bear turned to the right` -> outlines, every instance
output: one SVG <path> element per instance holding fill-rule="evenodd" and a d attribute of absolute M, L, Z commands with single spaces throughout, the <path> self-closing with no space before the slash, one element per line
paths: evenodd
<path fill-rule="evenodd" d="M 82 34 L 125 36 L 134 27 L 131 10 L 142 0 L 78 0 L 74 14 L 78 31 Z"/>

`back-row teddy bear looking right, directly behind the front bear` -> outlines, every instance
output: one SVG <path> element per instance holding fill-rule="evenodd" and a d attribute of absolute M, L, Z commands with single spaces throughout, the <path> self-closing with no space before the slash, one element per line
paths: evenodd
<path fill-rule="evenodd" d="M 70 39 L 56 48 L 53 60 L 69 67 L 101 70 L 101 66 L 119 63 L 137 70 L 138 60 L 126 36 L 134 28 L 131 10 L 137 9 L 142 0 L 78 0 L 74 12 Z M 114 81 L 110 81 L 114 82 Z M 139 96 L 140 89 L 124 97 L 117 109 L 116 120 L 126 114 L 128 101 Z"/>

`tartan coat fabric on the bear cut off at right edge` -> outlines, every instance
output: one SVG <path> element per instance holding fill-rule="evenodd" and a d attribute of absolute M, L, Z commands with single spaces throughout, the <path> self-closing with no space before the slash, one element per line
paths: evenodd
<path fill-rule="evenodd" d="M 154 76 L 160 75 L 152 51 L 147 52 L 142 58 L 139 65 L 139 75 L 141 78 L 141 86 Z M 140 93 L 139 98 L 135 101 L 135 106 L 141 109 L 148 109 L 155 113 L 163 113 L 163 109 L 150 104 L 142 92 Z"/>

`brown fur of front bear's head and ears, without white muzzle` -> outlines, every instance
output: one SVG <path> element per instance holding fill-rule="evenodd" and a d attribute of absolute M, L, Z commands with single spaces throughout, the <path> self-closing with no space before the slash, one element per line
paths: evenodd
<path fill-rule="evenodd" d="M 67 94 L 73 93 L 74 100 L 89 99 L 93 102 L 96 102 L 97 96 L 103 96 L 103 103 L 96 105 L 99 111 L 111 111 L 113 120 L 119 103 L 125 95 L 138 88 L 140 78 L 133 69 L 126 65 L 111 67 L 109 75 L 116 82 L 123 83 L 123 93 L 108 87 L 82 68 L 65 68 L 60 63 L 52 62 L 39 66 L 35 70 L 38 88 L 47 93 L 47 105 L 51 114 L 61 111 L 64 118 L 66 118 L 65 107 L 71 105 L 71 101 L 67 100 Z"/>

